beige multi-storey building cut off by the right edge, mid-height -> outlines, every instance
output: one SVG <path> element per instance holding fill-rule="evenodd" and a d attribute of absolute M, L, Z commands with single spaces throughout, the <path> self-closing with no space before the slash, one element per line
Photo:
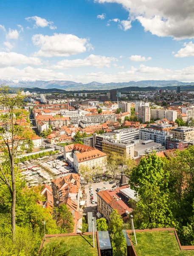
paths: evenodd
<path fill-rule="evenodd" d="M 191 141 L 194 140 L 194 128 L 181 126 L 171 130 L 174 139 Z"/>

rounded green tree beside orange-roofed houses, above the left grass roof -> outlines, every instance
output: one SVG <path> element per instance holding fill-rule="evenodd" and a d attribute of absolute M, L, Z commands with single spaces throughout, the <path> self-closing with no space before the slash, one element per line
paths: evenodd
<path fill-rule="evenodd" d="M 70 212 L 70 209 L 67 208 L 66 204 L 62 204 L 59 207 L 55 208 L 55 217 L 56 224 L 62 229 L 62 232 L 71 233 L 73 232 L 73 216 Z"/>

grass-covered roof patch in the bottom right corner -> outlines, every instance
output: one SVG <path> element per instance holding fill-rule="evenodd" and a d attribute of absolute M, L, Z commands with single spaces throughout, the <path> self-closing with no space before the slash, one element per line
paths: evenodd
<path fill-rule="evenodd" d="M 138 245 L 135 237 L 130 237 L 138 256 L 194 256 L 194 250 L 180 250 L 173 230 L 137 232 Z"/>

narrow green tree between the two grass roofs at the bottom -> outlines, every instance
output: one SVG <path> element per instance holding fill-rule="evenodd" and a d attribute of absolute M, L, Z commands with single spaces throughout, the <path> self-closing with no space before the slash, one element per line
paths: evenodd
<path fill-rule="evenodd" d="M 110 231 L 113 256 L 126 255 L 127 246 L 122 232 L 123 220 L 121 215 L 118 214 L 118 210 L 112 210 L 108 227 Z"/>

